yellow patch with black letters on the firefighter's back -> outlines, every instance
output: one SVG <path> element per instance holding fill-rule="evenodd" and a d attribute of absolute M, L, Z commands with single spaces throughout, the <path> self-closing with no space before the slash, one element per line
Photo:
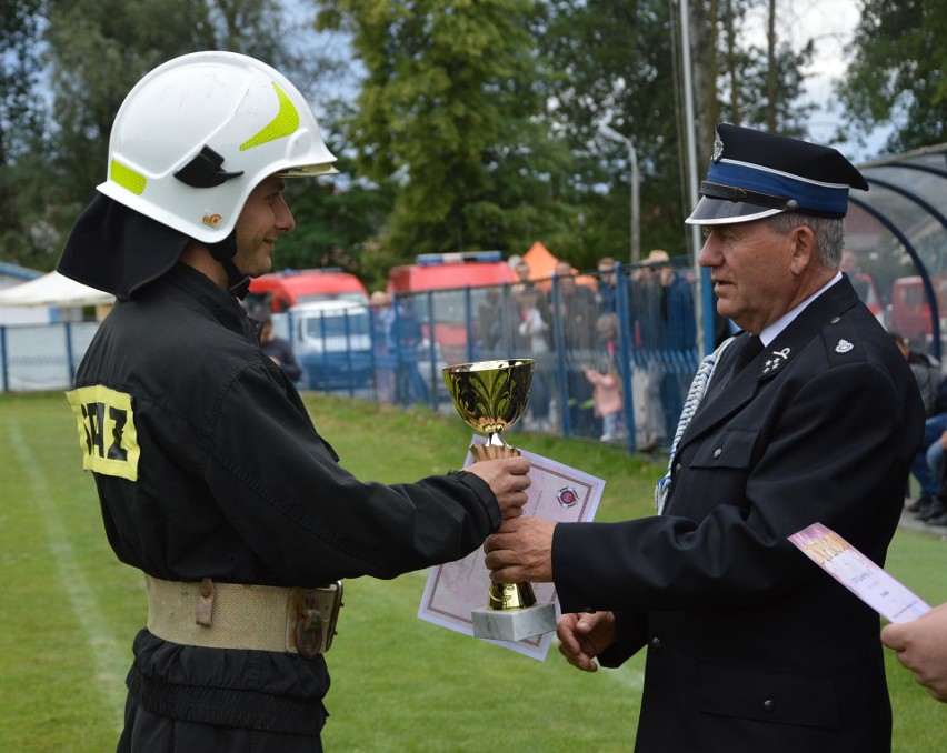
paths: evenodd
<path fill-rule="evenodd" d="M 79 423 L 82 468 L 87 471 L 138 480 L 138 431 L 131 395 L 101 384 L 66 393 Z"/>

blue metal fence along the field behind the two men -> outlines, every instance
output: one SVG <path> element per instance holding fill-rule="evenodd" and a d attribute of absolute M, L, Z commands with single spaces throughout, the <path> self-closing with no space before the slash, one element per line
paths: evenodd
<path fill-rule="evenodd" d="M 297 351 L 303 390 L 452 413 L 446 365 L 532 358 L 530 404 L 514 431 L 666 449 L 698 361 L 692 283 L 688 270 L 616 272 L 614 284 L 590 274 L 428 291 L 273 323 Z M 0 386 L 68 389 L 97 327 L 0 327 Z M 609 380 L 615 389 L 600 384 Z"/>

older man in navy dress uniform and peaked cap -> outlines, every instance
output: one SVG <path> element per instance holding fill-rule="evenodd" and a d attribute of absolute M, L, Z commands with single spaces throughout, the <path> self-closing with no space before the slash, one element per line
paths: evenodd
<path fill-rule="evenodd" d="M 787 539 L 821 522 L 883 564 L 924 428 L 838 271 L 849 188 L 868 184 L 834 149 L 719 126 L 687 222 L 744 333 L 695 379 L 660 514 L 487 540 L 495 580 L 555 581 L 578 669 L 648 646 L 638 751 L 890 750 L 879 618 Z"/>

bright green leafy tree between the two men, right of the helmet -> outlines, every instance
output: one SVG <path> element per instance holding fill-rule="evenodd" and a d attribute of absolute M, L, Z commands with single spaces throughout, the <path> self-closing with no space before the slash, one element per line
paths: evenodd
<path fill-rule="evenodd" d="M 320 29 L 351 34 L 367 76 L 346 123 L 360 174 L 398 190 L 379 242 L 393 257 L 525 251 L 564 233 L 567 152 L 538 116 L 531 0 L 336 0 Z"/>

